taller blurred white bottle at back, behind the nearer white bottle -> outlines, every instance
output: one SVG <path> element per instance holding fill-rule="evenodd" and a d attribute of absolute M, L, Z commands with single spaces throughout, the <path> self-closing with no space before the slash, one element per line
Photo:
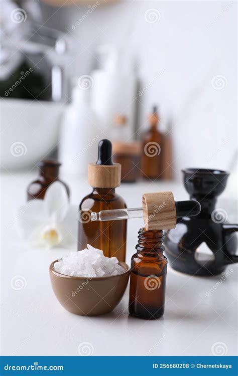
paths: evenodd
<path fill-rule="evenodd" d="M 118 115 L 127 117 L 126 138 L 135 132 L 136 77 L 132 60 L 113 46 L 100 48 L 102 68 L 92 72 L 93 87 L 91 104 L 100 119 L 102 131 L 111 138 L 114 119 Z"/>

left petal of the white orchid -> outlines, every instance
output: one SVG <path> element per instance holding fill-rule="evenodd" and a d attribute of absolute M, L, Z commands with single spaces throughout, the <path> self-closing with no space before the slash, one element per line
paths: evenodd
<path fill-rule="evenodd" d="M 16 226 L 22 238 L 30 237 L 31 233 L 46 222 L 43 200 L 30 200 L 19 208 L 16 216 Z"/>

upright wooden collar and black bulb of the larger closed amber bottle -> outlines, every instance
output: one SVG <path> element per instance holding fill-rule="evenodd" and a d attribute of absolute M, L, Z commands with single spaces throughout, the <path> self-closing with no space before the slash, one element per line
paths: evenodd
<path fill-rule="evenodd" d="M 121 184 L 121 164 L 111 159 L 112 146 L 107 139 L 98 143 L 98 159 L 88 165 L 88 184 L 95 188 L 115 188 Z"/>

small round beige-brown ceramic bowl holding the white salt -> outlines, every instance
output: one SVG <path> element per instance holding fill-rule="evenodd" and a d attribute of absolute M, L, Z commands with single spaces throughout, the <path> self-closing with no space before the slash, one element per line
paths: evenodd
<path fill-rule="evenodd" d="M 125 272 L 110 277 L 70 277 L 54 270 L 50 265 L 50 280 L 60 304 L 71 313 L 81 316 L 97 316 L 112 311 L 126 290 L 130 268 L 120 265 Z"/>

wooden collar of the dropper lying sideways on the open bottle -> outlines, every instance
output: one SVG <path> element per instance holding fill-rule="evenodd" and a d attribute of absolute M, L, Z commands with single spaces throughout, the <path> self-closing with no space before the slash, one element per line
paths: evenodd
<path fill-rule="evenodd" d="M 142 204 L 147 231 L 169 230 L 176 227 L 176 206 L 172 192 L 145 193 Z"/>

